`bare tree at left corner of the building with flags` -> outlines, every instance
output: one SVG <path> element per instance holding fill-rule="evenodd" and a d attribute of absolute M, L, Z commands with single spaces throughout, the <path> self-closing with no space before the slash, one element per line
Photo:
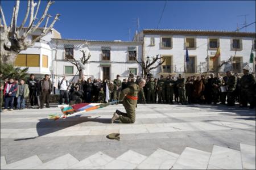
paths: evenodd
<path fill-rule="evenodd" d="M 164 58 L 163 61 L 162 58 L 163 57 L 159 57 L 160 55 L 156 55 L 156 57 L 153 57 L 153 61 L 150 62 L 148 59 L 146 60 L 146 62 L 144 61 L 144 59 L 142 58 L 141 61 L 138 61 L 138 59 L 136 58 L 136 56 L 133 56 L 135 58 L 135 61 L 137 61 L 137 63 L 139 63 L 139 65 L 141 65 L 142 70 L 143 70 L 143 76 L 144 78 L 146 78 L 147 74 L 150 73 L 150 70 L 152 69 L 156 69 L 158 66 L 162 65 L 164 63 L 164 61 L 166 61 L 166 59 Z M 154 63 L 156 63 L 157 61 L 158 64 L 156 66 L 153 66 Z"/>

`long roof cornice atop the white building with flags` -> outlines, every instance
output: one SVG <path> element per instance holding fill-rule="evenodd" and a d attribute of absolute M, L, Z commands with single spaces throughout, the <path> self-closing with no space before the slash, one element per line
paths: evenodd
<path fill-rule="evenodd" d="M 255 38 L 256 32 L 237 31 L 205 31 L 191 29 L 143 29 L 146 35 L 198 35 L 198 36 L 228 36 L 228 37 L 251 37 Z"/>

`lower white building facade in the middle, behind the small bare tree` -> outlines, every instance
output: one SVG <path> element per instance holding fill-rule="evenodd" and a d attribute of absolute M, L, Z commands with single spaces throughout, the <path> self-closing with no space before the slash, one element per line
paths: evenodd
<path fill-rule="evenodd" d="M 52 39 L 53 73 L 57 78 L 65 76 L 76 82 L 79 79 L 77 67 L 66 58 L 80 61 L 81 50 L 84 50 L 86 56 L 90 54 L 85 63 L 85 78 L 113 80 L 117 74 L 121 79 L 127 78 L 129 73 L 141 75 L 142 69 L 134 56 L 141 60 L 142 46 L 142 42 Z"/>

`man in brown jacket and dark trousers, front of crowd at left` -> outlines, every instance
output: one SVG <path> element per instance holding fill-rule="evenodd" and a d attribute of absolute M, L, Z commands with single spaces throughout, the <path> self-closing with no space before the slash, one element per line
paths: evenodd
<path fill-rule="evenodd" d="M 44 79 L 39 81 L 39 92 L 40 92 L 40 108 L 44 108 L 44 103 L 46 103 L 46 107 L 49 108 L 49 95 L 52 91 L 52 82 L 49 79 L 49 75 L 44 75 Z"/>

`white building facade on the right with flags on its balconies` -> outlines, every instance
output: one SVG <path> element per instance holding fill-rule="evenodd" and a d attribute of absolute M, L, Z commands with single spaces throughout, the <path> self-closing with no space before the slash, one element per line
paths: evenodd
<path fill-rule="evenodd" d="M 166 59 L 162 66 L 151 71 L 154 76 L 180 73 L 188 76 L 229 70 L 242 73 L 246 65 L 255 72 L 255 59 L 254 63 L 249 62 L 252 48 L 255 57 L 255 32 L 144 29 L 133 41 L 144 42 L 144 57 L 159 54 Z M 221 55 L 213 60 L 218 46 Z M 185 62 L 187 47 L 189 62 Z M 221 62 L 228 59 L 232 62 L 220 67 Z"/>

